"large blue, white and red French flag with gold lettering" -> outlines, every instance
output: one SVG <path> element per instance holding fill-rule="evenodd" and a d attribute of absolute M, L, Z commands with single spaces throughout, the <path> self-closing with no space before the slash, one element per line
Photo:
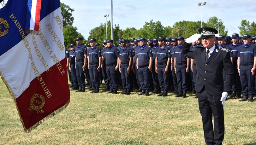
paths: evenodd
<path fill-rule="evenodd" d="M 8 0 L 0 44 L 0 76 L 29 132 L 70 101 L 60 1 Z"/>

